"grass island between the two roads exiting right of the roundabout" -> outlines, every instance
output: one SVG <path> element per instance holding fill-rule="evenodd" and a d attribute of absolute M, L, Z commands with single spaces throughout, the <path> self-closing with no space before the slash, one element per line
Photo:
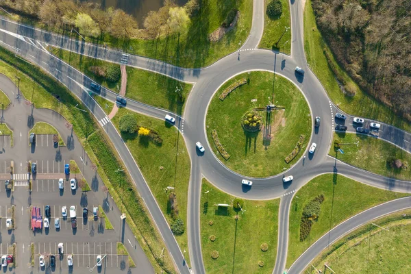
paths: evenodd
<path fill-rule="evenodd" d="M 334 145 L 330 147 L 328 154 L 337 157 L 338 160 L 379 175 L 411 180 L 411 153 L 384 140 L 362 134 L 334 133 L 334 140 L 336 139 L 343 143 L 359 142 L 358 147 L 356 145 L 343 145 L 344 154 L 338 153 L 337 155 Z M 334 144 L 334 140 L 332 144 Z M 408 169 L 393 169 L 386 162 L 391 157 L 400 159 L 401 162 L 408 162 L 410 167 Z"/>

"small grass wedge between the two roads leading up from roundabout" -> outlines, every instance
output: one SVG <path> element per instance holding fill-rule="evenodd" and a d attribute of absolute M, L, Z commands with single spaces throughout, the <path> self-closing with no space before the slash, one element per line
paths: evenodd
<path fill-rule="evenodd" d="M 267 5 L 271 2 L 271 0 L 265 0 L 265 11 Z M 279 51 L 290 54 L 291 53 L 291 31 L 288 29 L 288 32 L 282 36 L 285 31 L 285 27 L 290 27 L 290 6 L 288 1 L 281 0 L 283 12 L 278 18 L 270 18 L 266 12 L 264 13 L 264 34 L 262 35 L 260 45 L 258 47 L 260 49 L 279 49 Z M 275 43 L 278 39 L 281 38 L 277 47 L 275 47 Z"/>

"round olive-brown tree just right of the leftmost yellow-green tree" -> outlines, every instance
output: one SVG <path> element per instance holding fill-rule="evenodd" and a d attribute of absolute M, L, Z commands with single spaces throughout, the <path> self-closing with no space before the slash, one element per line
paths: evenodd
<path fill-rule="evenodd" d="M 116 10 L 112 18 L 110 34 L 116 38 L 129 39 L 136 34 L 138 24 L 133 16 L 123 10 Z"/>

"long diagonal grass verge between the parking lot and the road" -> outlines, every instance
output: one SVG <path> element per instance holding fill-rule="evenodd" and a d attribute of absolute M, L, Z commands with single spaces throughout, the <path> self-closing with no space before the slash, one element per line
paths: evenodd
<path fill-rule="evenodd" d="M 0 59 L 2 60 L 0 73 L 7 75 L 10 79 L 13 79 L 17 73 L 21 78 L 20 88 L 25 98 L 33 98 L 37 108 L 50 108 L 59 112 L 73 125 L 75 134 L 91 161 L 95 163 L 97 172 L 110 190 L 114 202 L 119 207 L 124 208 L 123 205 L 125 205 L 127 208 L 123 210 L 130 217 L 127 218 L 127 223 L 147 254 L 154 271 L 160 273 L 163 269 L 166 273 L 173 273 L 174 265 L 168 253 L 165 253 L 164 258 L 158 258 L 164 248 L 164 242 L 147 215 L 145 203 L 134 189 L 132 179 L 127 172 L 121 174 L 115 172 L 119 167 L 125 168 L 108 137 L 99 130 L 98 122 L 90 116 L 90 113 L 75 110 L 74 106 L 77 103 L 81 104 L 81 101 L 73 97 L 70 90 L 56 82 L 50 75 L 43 73 L 38 66 L 16 58 L 14 53 L 2 47 L 0 47 Z M 59 100 L 56 99 L 57 96 L 60 97 Z M 121 190 L 125 186 L 128 186 L 127 192 Z M 99 186 L 92 185 L 92 187 L 98 188 Z M 119 191 L 122 192 L 121 198 Z"/>

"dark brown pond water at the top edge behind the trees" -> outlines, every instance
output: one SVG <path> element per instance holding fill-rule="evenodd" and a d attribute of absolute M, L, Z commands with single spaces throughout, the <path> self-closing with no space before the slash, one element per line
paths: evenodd
<path fill-rule="evenodd" d="M 132 14 L 138 21 L 138 26 L 142 27 L 144 17 L 151 10 L 158 10 L 164 5 L 164 0 L 82 0 L 83 2 L 100 3 L 101 8 L 120 8 L 128 14 Z M 175 0 L 179 6 L 187 3 L 188 0 Z"/>

